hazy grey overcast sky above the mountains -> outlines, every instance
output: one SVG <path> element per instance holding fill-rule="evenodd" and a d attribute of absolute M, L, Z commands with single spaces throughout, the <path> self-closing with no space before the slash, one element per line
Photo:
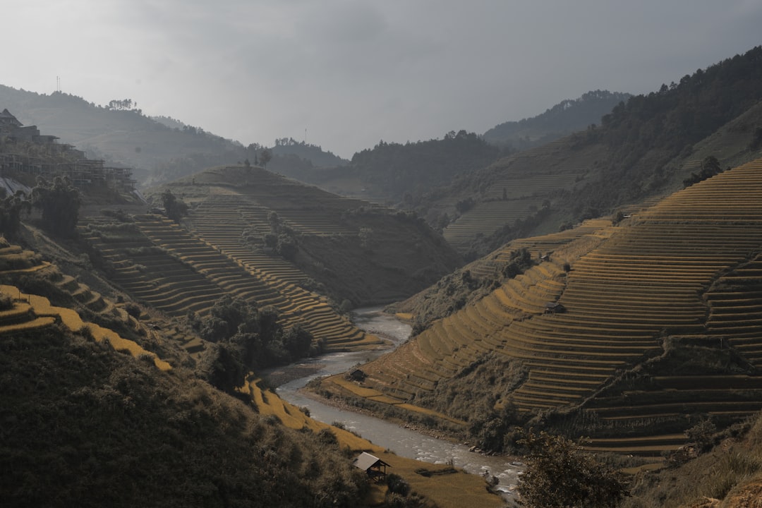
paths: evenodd
<path fill-rule="evenodd" d="M 131 98 L 244 144 L 351 157 L 647 93 L 762 44 L 759 0 L 6 2 L 0 84 Z M 0 104 L 2 107 L 2 104 Z"/>

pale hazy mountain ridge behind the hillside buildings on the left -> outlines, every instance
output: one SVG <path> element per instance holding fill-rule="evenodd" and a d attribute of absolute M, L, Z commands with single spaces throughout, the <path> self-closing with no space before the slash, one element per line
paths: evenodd
<path fill-rule="evenodd" d="M 104 107 L 72 94 L 38 94 L 0 85 L 0 110 L 7 108 L 21 123 L 36 125 L 62 143 L 75 145 L 88 158 L 133 168 L 142 187 L 247 158 L 253 163 L 256 152 L 264 149 L 259 143 L 245 146 L 171 117 L 147 117 L 132 106 Z M 314 145 L 283 148 L 272 149 L 270 164 L 276 171 L 345 162 Z"/>

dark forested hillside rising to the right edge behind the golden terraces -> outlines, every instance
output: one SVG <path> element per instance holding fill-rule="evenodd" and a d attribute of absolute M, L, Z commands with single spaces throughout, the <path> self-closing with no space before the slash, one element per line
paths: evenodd
<path fill-rule="evenodd" d="M 708 156 L 722 168 L 755 157 L 760 85 L 757 47 L 621 102 L 600 126 L 460 177 L 430 193 L 418 211 L 432 225 L 449 224 L 445 238 L 478 257 L 517 236 L 558 231 L 663 196 Z"/>

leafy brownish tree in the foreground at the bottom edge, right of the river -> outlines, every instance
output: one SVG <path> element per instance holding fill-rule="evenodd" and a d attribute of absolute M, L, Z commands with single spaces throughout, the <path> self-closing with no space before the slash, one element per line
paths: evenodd
<path fill-rule="evenodd" d="M 527 468 L 519 478 L 520 503 L 529 508 L 610 508 L 627 492 L 620 474 L 563 436 L 528 430 Z"/>

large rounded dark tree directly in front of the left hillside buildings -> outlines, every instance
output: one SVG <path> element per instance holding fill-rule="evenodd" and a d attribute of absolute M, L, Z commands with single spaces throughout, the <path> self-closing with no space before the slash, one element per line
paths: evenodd
<path fill-rule="evenodd" d="M 53 182 L 37 177 L 32 189 L 32 205 L 43 212 L 43 225 L 62 236 L 72 235 L 79 219 L 79 192 L 69 178 L 55 177 Z"/>

